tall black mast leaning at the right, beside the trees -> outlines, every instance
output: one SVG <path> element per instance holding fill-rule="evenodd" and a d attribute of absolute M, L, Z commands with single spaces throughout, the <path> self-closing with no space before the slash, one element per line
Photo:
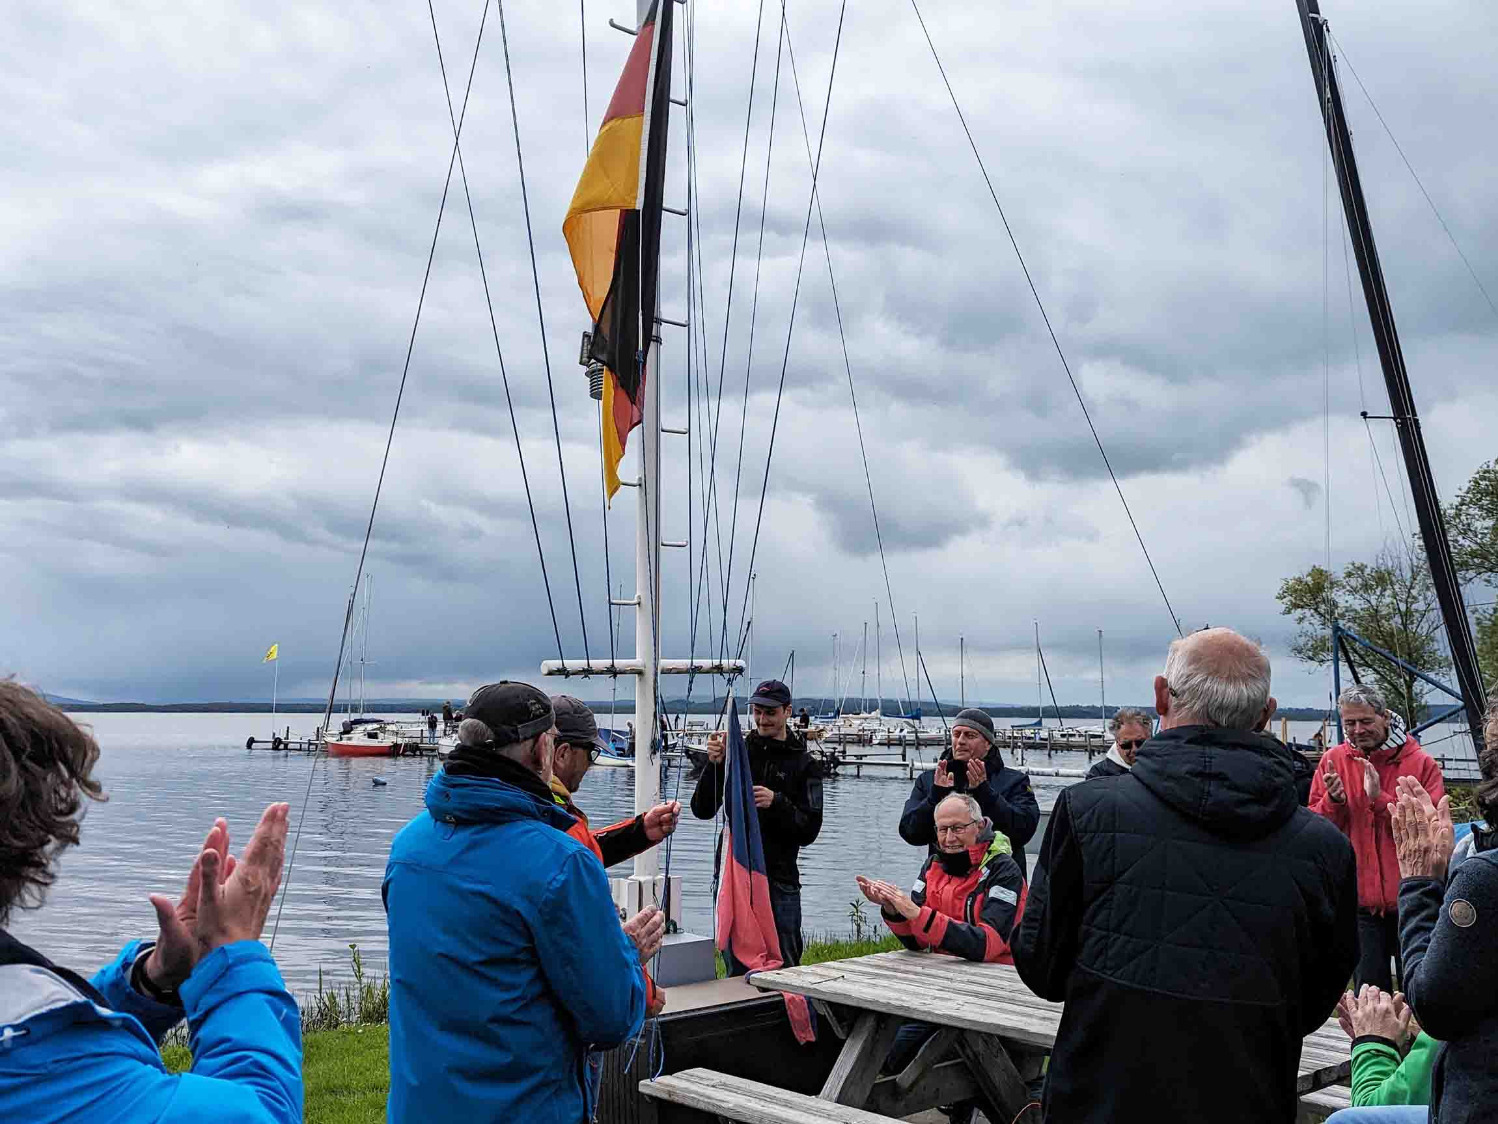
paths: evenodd
<path fill-rule="evenodd" d="M 1317 97 L 1321 102 L 1326 139 L 1332 148 L 1332 165 L 1336 168 L 1342 213 L 1347 216 L 1347 231 L 1353 240 L 1353 253 L 1357 256 L 1357 274 L 1363 282 L 1368 319 L 1372 325 L 1374 340 L 1378 343 L 1378 363 L 1384 372 L 1389 405 L 1393 411 L 1393 423 L 1399 433 L 1399 447 L 1410 477 L 1410 493 L 1420 523 L 1420 541 L 1425 544 L 1435 596 L 1446 620 L 1452 664 L 1456 667 L 1456 685 L 1461 688 L 1462 703 L 1467 707 L 1473 746 L 1482 752 L 1486 697 L 1483 677 L 1477 668 L 1477 650 L 1467 619 L 1467 605 L 1462 602 L 1462 586 L 1452 559 L 1452 544 L 1446 537 L 1441 498 L 1435 490 L 1435 477 L 1426 456 L 1425 436 L 1420 433 L 1420 415 L 1410 390 L 1410 373 L 1399 346 L 1393 307 L 1384 286 L 1384 271 L 1378 264 L 1374 228 L 1368 219 L 1363 183 L 1357 174 L 1357 157 L 1353 153 L 1353 141 L 1342 109 L 1342 90 L 1336 81 L 1336 67 L 1332 66 L 1326 19 L 1321 16 L 1317 0 L 1296 0 L 1296 4 L 1300 9 L 1300 30 L 1305 31 L 1306 51 L 1311 55 L 1311 76 L 1315 79 Z"/>

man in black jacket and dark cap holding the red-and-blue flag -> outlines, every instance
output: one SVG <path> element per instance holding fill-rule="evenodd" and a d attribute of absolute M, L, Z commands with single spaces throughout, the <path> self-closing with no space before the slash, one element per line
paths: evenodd
<path fill-rule="evenodd" d="M 755 728 L 745 736 L 753 802 L 759 809 L 759 838 L 770 877 L 770 910 L 786 967 L 801 962 L 801 871 L 797 854 L 822 830 L 822 775 L 806 752 L 806 737 L 789 728 L 791 688 L 767 679 L 749 697 Z M 712 820 L 724 802 L 724 754 L 728 736 L 707 739 L 707 766 L 697 778 L 692 815 Z M 728 974 L 746 968 L 730 956 Z"/>

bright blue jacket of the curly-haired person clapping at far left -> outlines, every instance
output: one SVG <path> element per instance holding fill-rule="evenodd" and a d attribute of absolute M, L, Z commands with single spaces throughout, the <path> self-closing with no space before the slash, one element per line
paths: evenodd
<path fill-rule="evenodd" d="M 184 1010 L 130 986 L 147 949 L 126 946 L 84 985 L 4 937 L 0 1120 L 300 1123 L 301 1016 L 265 946 L 214 949 L 181 985 L 193 1067 L 180 1076 L 166 1072 L 157 1042 Z"/>

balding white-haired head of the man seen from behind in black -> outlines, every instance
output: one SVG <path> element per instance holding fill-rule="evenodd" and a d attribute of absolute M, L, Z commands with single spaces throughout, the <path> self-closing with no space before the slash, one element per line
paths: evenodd
<path fill-rule="evenodd" d="M 1213 725 L 1263 730 L 1275 712 L 1269 656 L 1231 628 L 1206 628 L 1170 644 L 1165 673 L 1155 677 L 1159 728 Z"/>

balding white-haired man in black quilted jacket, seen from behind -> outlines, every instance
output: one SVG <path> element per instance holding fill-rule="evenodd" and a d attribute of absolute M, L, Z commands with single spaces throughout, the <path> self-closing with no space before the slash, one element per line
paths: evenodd
<path fill-rule="evenodd" d="M 1254 641 L 1182 637 L 1134 767 L 1056 797 L 1014 937 L 1020 979 L 1065 1001 L 1047 1120 L 1296 1118 L 1302 1039 L 1357 956 L 1357 875 L 1255 733 L 1269 691 Z"/>

